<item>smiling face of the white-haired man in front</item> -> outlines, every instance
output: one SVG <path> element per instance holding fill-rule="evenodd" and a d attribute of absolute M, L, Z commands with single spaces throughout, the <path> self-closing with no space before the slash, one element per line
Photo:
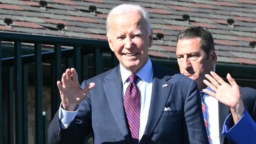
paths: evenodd
<path fill-rule="evenodd" d="M 108 42 L 121 65 L 135 74 L 147 63 L 152 35 L 139 13 L 117 14 L 110 18 Z"/>

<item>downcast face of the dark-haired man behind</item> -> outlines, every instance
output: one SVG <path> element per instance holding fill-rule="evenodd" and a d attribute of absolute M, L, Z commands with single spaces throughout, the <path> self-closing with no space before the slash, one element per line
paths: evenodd
<path fill-rule="evenodd" d="M 213 61 L 202 50 L 200 38 L 178 40 L 176 55 L 180 73 L 197 81 L 198 85 L 212 70 Z"/>

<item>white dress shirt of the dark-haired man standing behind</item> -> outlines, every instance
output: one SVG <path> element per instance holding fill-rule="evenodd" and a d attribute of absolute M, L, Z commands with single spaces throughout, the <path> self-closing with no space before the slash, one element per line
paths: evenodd
<path fill-rule="evenodd" d="M 209 87 L 206 89 L 211 90 Z M 212 90 L 211 90 L 212 91 Z M 210 144 L 220 144 L 219 139 L 219 106 L 218 100 L 206 93 L 202 94 L 206 104 L 207 122 L 210 136 Z"/>

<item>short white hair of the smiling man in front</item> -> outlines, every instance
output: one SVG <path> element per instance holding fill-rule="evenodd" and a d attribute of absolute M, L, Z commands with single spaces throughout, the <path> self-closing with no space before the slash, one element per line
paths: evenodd
<path fill-rule="evenodd" d="M 107 20 L 106 20 L 106 26 L 107 26 L 107 36 L 109 35 L 109 22 L 112 15 L 122 14 L 127 11 L 132 12 L 139 12 L 141 13 L 141 16 L 146 20 L 146 27 L 148 34 L 152 34 L 152 28 L 151 28 L 151 21 L 148 15 L 148 12 L 144 9 L 144 7 L 141 7 L 137 4 L 121 4 L 119 6 L 114 7 L 111 9 L 111 11 L 108 14 Z M 124 15 L 125 17 L 125 15 Z"/>

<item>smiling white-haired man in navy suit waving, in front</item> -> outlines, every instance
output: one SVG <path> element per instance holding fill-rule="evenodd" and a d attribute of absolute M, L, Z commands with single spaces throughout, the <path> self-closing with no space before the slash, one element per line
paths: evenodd
<path fill-rule="evenodd" d="M 49 127 L 49 143 L 206 144 L 195 81 L 148 57 L 152 30 L 147 11 L 132 4 L 113 8 L 107 18 L 116 68 L 78 84 L 74 68 L 57 85 L 61 107 Z M 84 89 L 83 89 L 84 88 Z"/>

